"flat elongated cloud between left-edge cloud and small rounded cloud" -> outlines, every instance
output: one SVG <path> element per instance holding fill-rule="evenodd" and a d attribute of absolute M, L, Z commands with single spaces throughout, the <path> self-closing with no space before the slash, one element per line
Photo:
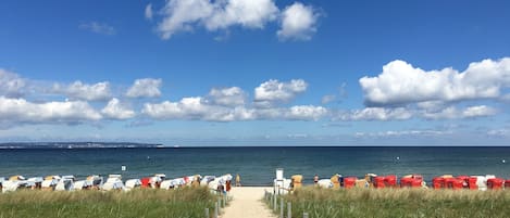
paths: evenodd
<path fill-rule="evenodd" d="M 111 98 L 110 82 L 108 81 L 94 85 L 75 81 L 67 86 L 53 84 L 51 92 L 64 94 L 71 99 L 87 101 L 105 101 Z"/>

